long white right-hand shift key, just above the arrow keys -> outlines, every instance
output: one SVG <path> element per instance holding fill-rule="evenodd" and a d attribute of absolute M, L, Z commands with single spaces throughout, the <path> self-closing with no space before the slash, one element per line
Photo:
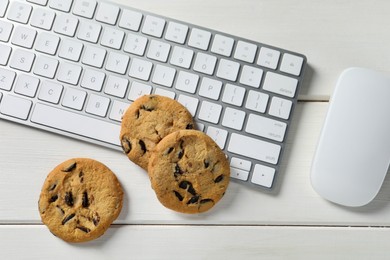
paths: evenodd
<path fill-rule="evenodd" d="M 280 145 L 235 133 L 231 135 L 228 146 L 229 152 L 272 164 L 278 163 L 280 149 Z"/>

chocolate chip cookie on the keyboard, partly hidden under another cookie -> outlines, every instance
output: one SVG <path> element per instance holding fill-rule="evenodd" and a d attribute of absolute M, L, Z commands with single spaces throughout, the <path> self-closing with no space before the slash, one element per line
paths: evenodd
<path fill-rule="evenodd" d="M 122 118 L 120 141 L 127 157 L 145 170 L 150 151 L 166 135 L 194 128 L 192 115 L 176 100 L 158 95 L 138 98 Z"/>

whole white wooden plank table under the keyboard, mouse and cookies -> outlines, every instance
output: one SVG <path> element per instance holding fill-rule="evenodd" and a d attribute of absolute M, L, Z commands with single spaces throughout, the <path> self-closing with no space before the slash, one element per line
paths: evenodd
<path fill-rule="evenodd" d="M 388 259 L 390 179 L 369 205 L 345 208 L 315 193 L 310 166 L 342 70 L 390 71 L 389 1 L 118 1 L 308 57 L 277 187 L 232 182 L 214 209 L 183 215 L 123 154 L 0 121 L 0 259 Z M 72 157 L 105 163 L 125 190 L 115 224 L 84 244 L 54 237 L 37 209 L 47 173 Z"/>

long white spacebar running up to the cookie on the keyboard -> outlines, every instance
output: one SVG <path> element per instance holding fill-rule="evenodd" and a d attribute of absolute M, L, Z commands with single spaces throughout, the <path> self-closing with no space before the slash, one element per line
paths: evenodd
<path fill-rule="evenodd" d="M 120 125 L 82 114 L 38 103 L 35 105 L 31 121 L 98 141 L 120 145 Z"/>

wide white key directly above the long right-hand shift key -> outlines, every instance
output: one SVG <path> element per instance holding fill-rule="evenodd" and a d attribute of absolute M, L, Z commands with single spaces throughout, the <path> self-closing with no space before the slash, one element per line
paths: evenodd
<path fill-rule="evenodd" d="M 250 134 L 282 142 L 286 129 L 287 125 L 284 122 L 250 114 L 245 131 Z"/>

